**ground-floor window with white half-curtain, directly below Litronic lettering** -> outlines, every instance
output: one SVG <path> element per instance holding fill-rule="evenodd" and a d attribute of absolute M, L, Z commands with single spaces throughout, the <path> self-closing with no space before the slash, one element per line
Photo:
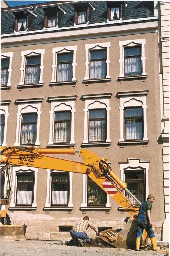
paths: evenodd
<path fill-rule="evenodd" d="M 32 206 L 34 191 L 34 174 L 17 174 L 16 206 Z"/>

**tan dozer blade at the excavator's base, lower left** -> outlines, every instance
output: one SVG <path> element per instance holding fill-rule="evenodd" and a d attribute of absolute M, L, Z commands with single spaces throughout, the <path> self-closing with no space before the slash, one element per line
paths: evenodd
<path fill-rule="evenodd" d="M 24 240 L 26 225 L 2 225 L 1 241 Z"/>

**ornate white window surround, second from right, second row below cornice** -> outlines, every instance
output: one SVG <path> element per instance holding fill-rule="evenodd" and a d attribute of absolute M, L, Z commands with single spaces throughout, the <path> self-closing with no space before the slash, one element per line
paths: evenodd
<path fill-rule="evenodd" d="M 95 94 L 95 95 L 82 95 L 82 99 L 85 100 L 84 111 L 84 140 L 82 145 L 110 145 L 110 97 L 112 93 L 108 94 Z M 88 122 L 89 122 L 89 109 L 106 109 L 106 141 L 105 142 L 88 142 Z"/>

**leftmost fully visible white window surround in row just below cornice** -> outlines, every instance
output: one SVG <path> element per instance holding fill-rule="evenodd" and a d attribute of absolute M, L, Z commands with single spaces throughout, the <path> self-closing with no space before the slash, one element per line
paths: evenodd
<path fill-rule="evenodd" d="M 37 56 L 41 54 L 41 63 L 40 63 L 40 81 L 39 83 L 43 83 L 43 58 L 44 58 L 45 49 L 37 49 L 37 50 L 28 50 L 28 51 L 21 51 L 21 78 L 19 85 L 23 85 L 25 82 L 25 65 L 26 65 L 26 57 Z M 27 84 L 29 86 L 29 84 Z"/>

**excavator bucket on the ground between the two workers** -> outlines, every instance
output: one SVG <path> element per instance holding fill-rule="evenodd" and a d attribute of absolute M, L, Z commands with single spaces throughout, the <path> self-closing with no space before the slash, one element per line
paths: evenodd
<path fill-rule="evenodd" d="M 136 219 L 129 218 L 123 229 L 104 230 L 100 232 L 99 237 L 116 248 L 135 249 L 136 231 Z M 141 247 L 148 245 L 148 235 L 146 231 L 144 231 L 141 240 Z"/>

